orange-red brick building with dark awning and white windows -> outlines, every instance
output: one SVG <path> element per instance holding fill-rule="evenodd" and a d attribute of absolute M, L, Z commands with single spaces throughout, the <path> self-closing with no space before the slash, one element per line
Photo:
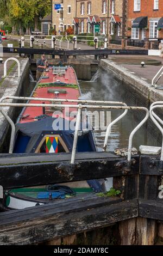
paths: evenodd
<path fill-rule="evenodd" d="M 128 37 L 149 41 L 161 39 L 163 37 L 162 16 L 162 0 L 128 0 Z"/>

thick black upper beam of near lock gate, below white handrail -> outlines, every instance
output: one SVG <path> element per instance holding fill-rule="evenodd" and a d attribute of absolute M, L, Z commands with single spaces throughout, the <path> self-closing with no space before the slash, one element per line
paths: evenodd
<path fill-rule="evenodd" d="M 113 154 L 78 153 L 74 166 L 70 159 L 71 154 L 0 157 L 0 185 L 10 189 L 139 173 L 139 156 L 134 157 L 135 164 L 125 173 L 125 159 Z"/>

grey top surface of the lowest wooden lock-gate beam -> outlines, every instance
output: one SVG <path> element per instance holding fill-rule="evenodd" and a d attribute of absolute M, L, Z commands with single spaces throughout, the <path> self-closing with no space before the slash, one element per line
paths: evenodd
<path fill-rule="evenodd" d="M 94 197 L 94 198 L 80 198 L 76 201 L 69 200 L 66 202 L 66 200 L 62 200 L 58 202 L 58 204 L 55 203 L 49 203 L 45 205 L 35 206 L 34 208 L 27 208 L 24 210 L 16 210 L 16 211 L 10 211 L 7 213 L 0 214 L 0 225 L 5 225 L 9 223 L 17 223 L 24 220 L 33 220 L 35 218 L 38 218 L 40 216 L 50 216 L 54 214 L 60 214 L 61 212 L 76 212 L 78 211 L 78 208 L 80 210 L 85 210 L 91 207 L 101 207 L 105 205 L 110 205 L 114 203 L 120 203 L 122 200 L 121 198 L 114 198 L 114 197 Z"/>

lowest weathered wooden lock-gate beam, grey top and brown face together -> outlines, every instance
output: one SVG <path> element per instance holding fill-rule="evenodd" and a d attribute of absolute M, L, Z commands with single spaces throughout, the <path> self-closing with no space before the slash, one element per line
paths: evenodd
<path fill-rule="evenodd" d="M 120 202 L 118 198 L 97 199 L 97 204 L 89 199 L 85 205 L 80 198 L 79 202 L 68 205 L 62 202 L 59 208 L 55 204 L 39 206 L 40 212 L 34 217 L 29 214 L 32 209 L 21 210 L 22 217 L 15 221 L 17 211 L 0 214 L 0 245 L 29 245 L 58 239 L 138 216 L 137 199 L 128 202 Z"/>

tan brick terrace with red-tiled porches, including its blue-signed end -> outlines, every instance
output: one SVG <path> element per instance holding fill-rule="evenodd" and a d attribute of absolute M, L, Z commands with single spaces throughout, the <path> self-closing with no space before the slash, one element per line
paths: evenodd
<path fill-rule="evenodd" d="M 127 0 L 53 0 L 52 26 L 57 34 L 69 26 L 75 34 L 95 33 L 117 39 L 124 37 Z M 61 4 L 61 10 L 54 5 Z"/>

